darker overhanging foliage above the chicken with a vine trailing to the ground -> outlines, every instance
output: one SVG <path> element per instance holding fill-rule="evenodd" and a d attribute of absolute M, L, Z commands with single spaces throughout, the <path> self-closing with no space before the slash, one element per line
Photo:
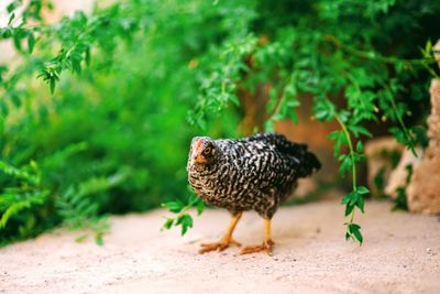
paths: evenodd
<path fill-rule="evenodd" d="M 431 1 L 322 0 L 280 1 L 275 9 L 263 1 L 246 8 L 254 10 L 245 13 L 252 15 L 249 25 L 244 30 L 239 25 L 215 51 L 220 53 L 211 61 L 215 65 L 207 78 L 217 80 L 202 88 L 198 106 L 207 107 L 199 109 L 211 113 L 228 105 L 226 99 L 237 104 L 238 85 L 253 92 L 262 83 L 268 84 L 265 126 L 272 130 L 276 120 L 297 121 L 298 94 L 311 94 L 315 119 L 340 126 L 329 139 L 334 141 L 340 175 L 352 177 L 352 190 L 342 198 L 345 237 L 362 243 L 361 227 L 354 222 L 355 208 L 364 211 L 370 193 L 358 185 L 362 140 L 372 137 L 367 126 L 388 121 L 389 133 L 413 153 L 427 141 L 422 126 L 407 127 L 405 120 L 413 116 L 411 106 L 427 97 L 428 73 L 438 76 L 429 41 L 433 34 L 417 32 L 424 25 L 432 32 L 432 17 L 440 7 Z M 428 20 L 432 22 L 427 24 Z M 399 37 L 403 33 L 405 39 Z"/>

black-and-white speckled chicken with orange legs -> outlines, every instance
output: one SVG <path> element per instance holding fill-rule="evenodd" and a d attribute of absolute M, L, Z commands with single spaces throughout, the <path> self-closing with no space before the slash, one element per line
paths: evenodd
<path fill-rule="evenodd" d="M 321 167 L 307 144 L 295 143 L 275 132 L 243 139 L 195 137 L 191 140 L 187 173 L 194 193 L 206 204 L 224 208 L 232 219 L 218 242 L 201 243 L 199 253 L 222 251 L 231 244 L 243 211 L 255 210 L 264 219 L 263 243 L 248 246 L 240 254 L 266 252 L 272 255 L 272 218 L 298 185 Z"/>

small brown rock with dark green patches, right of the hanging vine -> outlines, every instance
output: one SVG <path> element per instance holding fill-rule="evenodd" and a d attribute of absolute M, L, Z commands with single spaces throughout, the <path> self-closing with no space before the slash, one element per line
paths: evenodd
<path fill-rule="evenodd" d="M 381 196 L 405 148 L 393 137 L 383 137 L 365 143 L 369 187 L 373 195 Z"/>

